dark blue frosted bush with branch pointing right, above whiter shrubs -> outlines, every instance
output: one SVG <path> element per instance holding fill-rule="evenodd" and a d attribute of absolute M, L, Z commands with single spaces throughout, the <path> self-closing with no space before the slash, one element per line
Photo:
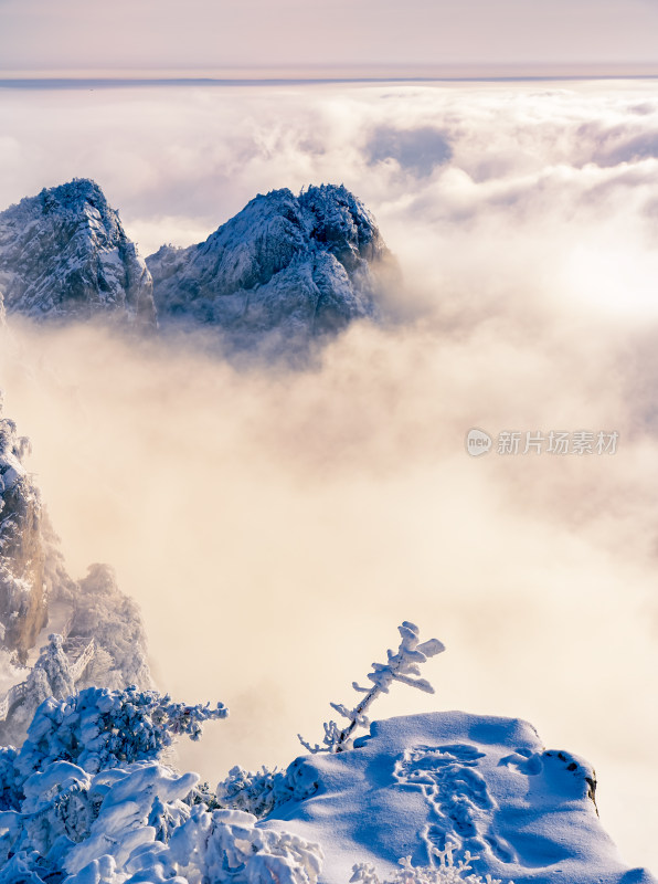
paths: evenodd
<path fill-rule="evenodd" d="M 17 758 L 23 776 L 64 760 L 92 774 L 155 759 L 178 735 L 199 739 L 203 722 L 225 718 L 222 703 L 215 708 L 172 703 L 156 691 L 108 691 L 87 687 L 67 699 L 46 699 L 36 709 L 28 739 Z"/>

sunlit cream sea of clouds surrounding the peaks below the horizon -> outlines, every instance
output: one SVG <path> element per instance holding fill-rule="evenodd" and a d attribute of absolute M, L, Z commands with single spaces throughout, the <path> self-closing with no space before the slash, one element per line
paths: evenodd
<path fill-rule="evenodd" d="M 436 696 L 375 714 L 531 720 L 658 866 L 655 83 L 6 88 L 0 109 L 0 207 L 92 177 L 146 255 L 257 192 L 343 182 L 401 267 L 390 320 L 306 371 L 201 338 L 1 338 L 71 570 L 113 564 L 159 686 L 231 707 L 181 764 L 285 765 L 412 619 L 448 648 Z M 619 435 L 505 456 L 503 431 Z"/>

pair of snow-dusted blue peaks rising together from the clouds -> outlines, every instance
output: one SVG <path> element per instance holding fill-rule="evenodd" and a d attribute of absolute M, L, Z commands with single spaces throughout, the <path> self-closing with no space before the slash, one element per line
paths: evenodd
<path fill-rule="evenodd" d="M 259 194 L 205 242 L 163 245 L 146 262 L 94 181 L 0 212 L 0 320 L 203 325 L 229 348 L 277 355 L 376 317 L 393 267 L 372 214 L 343 186 Z"/>

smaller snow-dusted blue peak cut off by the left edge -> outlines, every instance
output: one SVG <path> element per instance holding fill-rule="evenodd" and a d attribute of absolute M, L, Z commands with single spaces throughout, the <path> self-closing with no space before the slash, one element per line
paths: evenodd
<path fill-rule="evenodd" d="M 0 294 L 31 319 L 112 316 L 155 325 L 152 282 L 94 181 L 44 189 L 0 212 Z"/>

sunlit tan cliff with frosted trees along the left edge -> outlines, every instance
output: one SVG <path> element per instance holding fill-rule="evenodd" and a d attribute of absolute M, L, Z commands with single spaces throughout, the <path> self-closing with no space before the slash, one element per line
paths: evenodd
<path fill-rule="evenodd" d="M 13 682 L 0 695 L 0 744 L 20 741 L 39 703 L 63 698 L 73 685 L 151 686 L 137 604 L 105 565 L 92 565 L 77 582 L 68 576 L 23 465 L 28 450 L 14 422 L 0 419 L 0 662 Z M 46 627 L 60 634 L 31 666 Z"/>

